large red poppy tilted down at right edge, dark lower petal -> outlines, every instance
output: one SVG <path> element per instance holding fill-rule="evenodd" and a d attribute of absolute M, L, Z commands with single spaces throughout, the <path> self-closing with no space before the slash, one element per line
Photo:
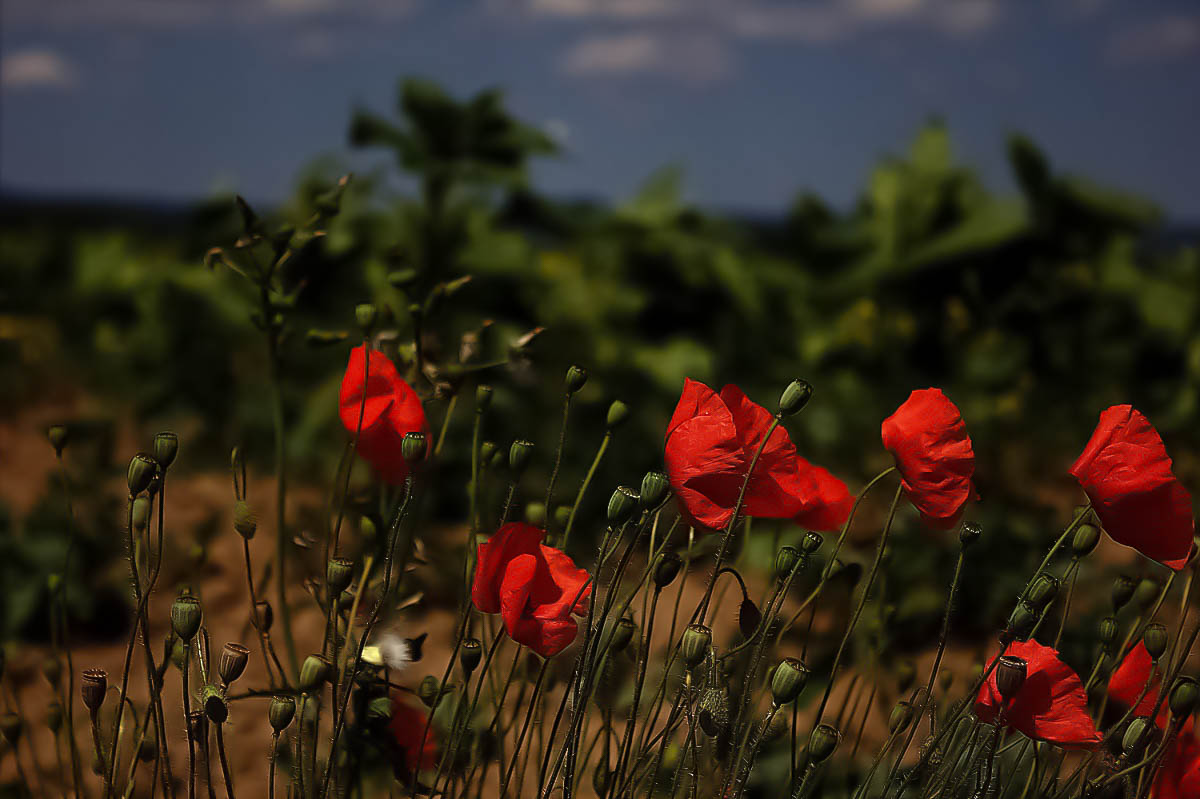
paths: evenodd
<path fill-rule="evenodd" d="M 1100 414 L 1070 467 L 1112 540 L 1175 570 L 1192 552 L 1192 495 L 1175 479 L 1158 431 L 1132 405 Z"/>

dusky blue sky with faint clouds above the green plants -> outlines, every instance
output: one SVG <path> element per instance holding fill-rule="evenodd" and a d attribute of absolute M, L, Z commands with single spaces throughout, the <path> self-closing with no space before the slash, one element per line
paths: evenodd
<path fill-rule="evenodd" d="M 559 196 L 677 163 L 703 205 L 845 206 L 936 114 L 997 190 L 1020 130 L 1200 220 L 1195 0 L 5 0 L 0 185 L 278 200 L 404 74 L 503 86 Z"/>

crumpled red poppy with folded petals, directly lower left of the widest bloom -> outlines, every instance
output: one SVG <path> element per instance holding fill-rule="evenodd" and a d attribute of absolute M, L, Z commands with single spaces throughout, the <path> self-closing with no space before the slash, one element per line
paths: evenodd
<path fill-rule="evenodd" d="M 541 542 L 545 531 L 510 522 L 479 545 L 470 596 L 484 613 L 499 613 L 517 643 L 542 657 L 565 649 L 578 630 L 572 613 L 588 609 L 588 572 Z"/>

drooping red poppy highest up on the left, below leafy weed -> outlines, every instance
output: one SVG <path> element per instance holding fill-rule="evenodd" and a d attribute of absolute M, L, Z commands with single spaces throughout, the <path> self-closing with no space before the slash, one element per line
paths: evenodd
<path fill-rule="evenodd" d="M 364 388 L 366 402 L 362 401 Z M 408 433 L 430 434 L 421 398 L 404 383 L 396 365 L 377 349 L 360 344 L 350 350 L 338 396 L 342 426 L 359 433 L 355 449 L 391 485 L 404 482 L 408 463 L 400 445 Z M 359 425 L 361 415 L 362 425 Z"/>

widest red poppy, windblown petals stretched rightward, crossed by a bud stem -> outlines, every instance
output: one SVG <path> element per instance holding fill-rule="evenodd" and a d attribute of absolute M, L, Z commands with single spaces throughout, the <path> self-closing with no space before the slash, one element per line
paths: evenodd
<path fill-rule="evenodd" d="M 666 465 L 684 512 L 697 524 L 710 529 L 728 524 L 746 469 L 772 419 L 736 385 L 718 395 L 703 383 L 684 382 L 667 425 Z M 835 530 L 846 522 L 853 504 L 846 483 L 797 455 L 780 426 L 758 456 L 740 512 Z"/>

